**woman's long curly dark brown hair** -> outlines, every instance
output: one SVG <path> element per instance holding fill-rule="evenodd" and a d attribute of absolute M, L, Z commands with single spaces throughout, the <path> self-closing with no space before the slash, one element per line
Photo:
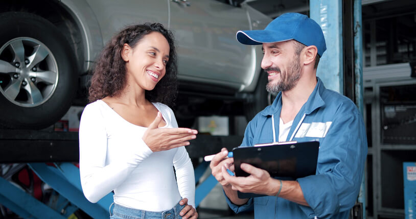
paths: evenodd
<path fill-rule="evenodd" d="M 165 36 L 169 43 L 169 61 L 166 74 L 154 87 L 146 90 L 145 97 L 150 102 L 160 102 L 170 107 L 174 105 L 177 94 L 177 65 L 174 37 L 170 30 L 160 23 L 131 25 L 115 34 L 103 48 L 95 63 L 88 90 L 88 101 L 94 102 L 106 96 L 119 96 L 126 86 L 126 62 L 121 57 L 124 43 L 130 47 L 139 42 L 145 35 L 158 32 Z"/>

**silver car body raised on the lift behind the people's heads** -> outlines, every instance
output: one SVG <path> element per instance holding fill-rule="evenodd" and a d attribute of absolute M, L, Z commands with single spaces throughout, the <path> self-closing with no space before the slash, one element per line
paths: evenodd
<path fill-rule="evenodd" d="M 131 23 L 160 22 L 175 35 L 179 80 L 252 92 L 261 72 L 260 46 L 240 44 L 238 30 L 263 29 L 271 20 L 246 4 L 214 0 L 62 0 L 82 30 L 82 71 L 111 36 Z"/>

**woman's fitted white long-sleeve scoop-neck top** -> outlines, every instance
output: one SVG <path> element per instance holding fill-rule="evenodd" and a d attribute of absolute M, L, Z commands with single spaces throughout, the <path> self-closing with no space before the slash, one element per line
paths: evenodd
<path fill-rule="evenodd" d="M 163 115 L 163 128 L 178 127 L 168 106 L 153 105 Z M 85 107 L 79 148 L 81 185 L 88 201 L 98 202 L 114 191 L 114 203 L 134 209 L 168 210 L 181 197 L 195 207 L 195 176 L 188 152 L 184 147 L 152 152 L 142 139 L 146 129 L 129 123 L 102 100 Z"/>

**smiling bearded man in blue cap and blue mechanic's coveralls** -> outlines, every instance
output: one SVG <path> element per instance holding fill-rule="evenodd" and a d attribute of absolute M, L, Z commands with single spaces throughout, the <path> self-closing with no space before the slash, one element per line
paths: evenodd
<path fill-rule="evenodd" d="M 320 143 L 316 175 L 296 181 L 273 179 L 263 169 L 241 164 L 248 177 L 230 176 L 233 158 L 226 149 L 211 161 L 229 206 L 252 209 L 255 218 L 348 218 L 362 179 L 367 141 L 362 117 L 354 103 L 328 90 L 316 77 L 326 50 L 319 25 L 305 15 L 287 13 L 265 30 L 239 31 L 240 43 L 262 44 L 262 68 L 269 92 L 279 92 L 271 106 L 247 125 L 242 146 L 273 141 Z M 240 199 L 237 190 L 267 196 Z"/>

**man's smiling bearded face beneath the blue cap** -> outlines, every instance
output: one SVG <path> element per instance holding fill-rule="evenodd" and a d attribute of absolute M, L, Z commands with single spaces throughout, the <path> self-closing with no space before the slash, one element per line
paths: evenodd
<path fill-rule="evenodd" d="M 268 74 L 268 92 L 292 89 L 301 78 L 301 63 L 292 40 L 263 43 L 262 68 Z"/>

